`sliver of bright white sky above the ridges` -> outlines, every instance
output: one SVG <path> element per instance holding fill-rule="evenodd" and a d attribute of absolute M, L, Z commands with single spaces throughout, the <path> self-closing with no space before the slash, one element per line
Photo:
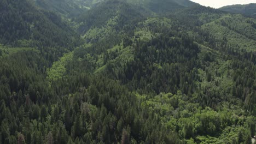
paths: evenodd
<path fill-rule="evenodd" d="M 213 8 L 220 8 L 225 5 L 232 5 L 232 4 L 256 3 L 256 0 L 190 0 L 190 1 L 200 3 L 201 5 L 210 6 Z"/>

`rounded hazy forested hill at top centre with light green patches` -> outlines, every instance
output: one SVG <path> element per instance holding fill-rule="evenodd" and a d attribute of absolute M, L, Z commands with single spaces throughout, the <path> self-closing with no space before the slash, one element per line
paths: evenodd
<path fill-rule="evenodd" d="M 148 15 L 150 12 L 144 9 L 123 1 L 111 0 L 98 3 L 75 21 L 78 23 L 77 31 L 88 43 L 100 44 L 101 40 L 110 40 L 116 44 L 122 38 L 121 34 L 129 35 L 137 23 Z"/>

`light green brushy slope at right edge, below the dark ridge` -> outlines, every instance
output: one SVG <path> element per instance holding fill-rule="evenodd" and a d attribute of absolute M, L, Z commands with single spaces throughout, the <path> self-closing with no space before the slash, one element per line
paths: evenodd
<path fill-rule="evenodd" d="M 255 22 L 253 19 L 248 19 Z M 254 50 L 256 30 L 245 17 L 224 15 L 220 19 L 206 23 L 203 30 L 210 32 L 217 40 L 224 40 L 230 47 Z"/>

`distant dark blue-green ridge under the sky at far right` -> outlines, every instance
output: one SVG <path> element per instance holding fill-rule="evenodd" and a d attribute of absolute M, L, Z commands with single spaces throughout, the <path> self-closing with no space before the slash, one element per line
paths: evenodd
<path fill-rule="evenodd" d="M 237 4 L 237 5 L 229 5 L 220 8 L 220 10 L 227 11 L 229 13 L 235 13 L 235 14 L 243 14 L 249 17 L 256 18 L 256 3 L 251 4 Z"/>

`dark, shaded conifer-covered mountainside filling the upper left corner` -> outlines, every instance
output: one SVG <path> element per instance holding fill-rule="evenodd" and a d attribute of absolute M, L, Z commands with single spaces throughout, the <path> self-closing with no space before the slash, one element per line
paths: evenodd
<path fill-rule="evenodd" d="M 54 13 L 31 1 L 0 2 L 0 43 L 16 46 L 72 46 L 79 37 Z"/>

